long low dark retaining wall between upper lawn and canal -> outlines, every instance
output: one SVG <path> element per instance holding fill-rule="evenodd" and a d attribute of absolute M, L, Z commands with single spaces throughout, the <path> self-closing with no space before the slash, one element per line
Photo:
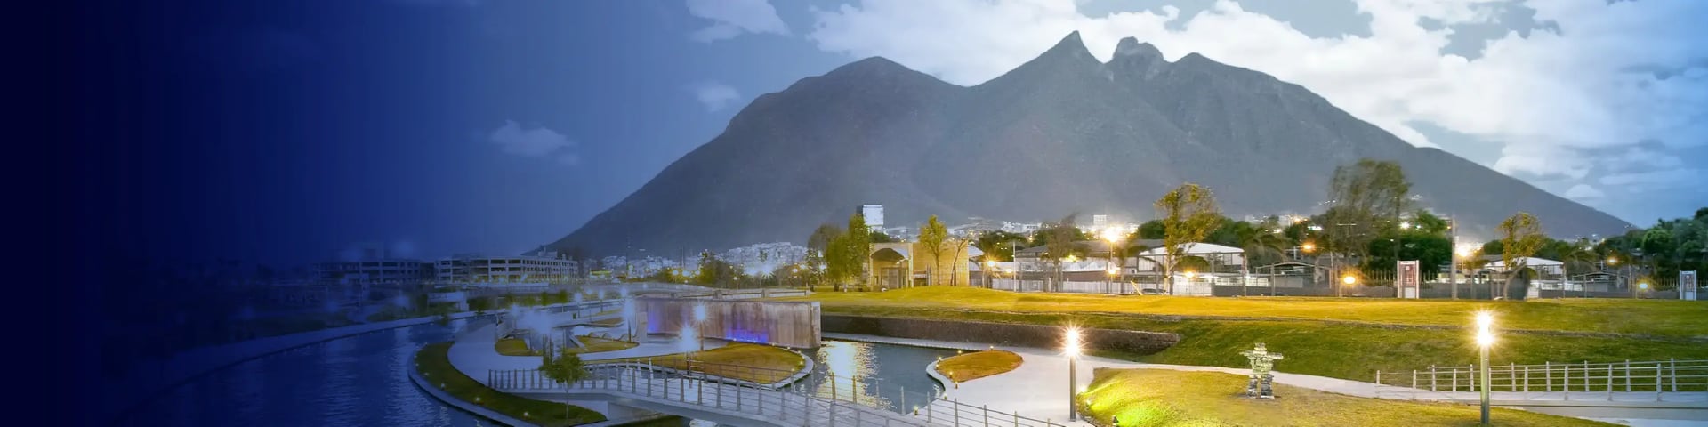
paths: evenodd
<path fill-rule="evenodd" d="M 895 319 L 866 316 L 820 316 L 823 330 L 830 333 L 859 333 L 893 338 L 968 342 L 1056 348 L 1061 347 L 1062 330 L 1059 326 L 986 323 L 986 321 L 939 321 L 939 319 Z M 1085 342 L 1095 350 L 1120 350 L 1132 354 L 1161 352 L 1177 342 L 1177 333 L 1156 331 L 1122 331 L 1122 330 L 1085 330 Z"/>

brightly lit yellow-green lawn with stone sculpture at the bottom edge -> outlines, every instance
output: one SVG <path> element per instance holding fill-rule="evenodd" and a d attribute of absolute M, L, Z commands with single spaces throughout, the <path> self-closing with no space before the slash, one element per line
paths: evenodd
<path fill-rule="evenodd" d="M 1274 386 L 1274 400 L 1243 398 L 1245 376 L 1163 369 L 1097 369 L 1079 395 L 1086 417 L 1105 425 L 1477 425 L 1474 405 L 1356 398 Z M 1494 408 L 1496 425 L 1612 425 Z"/>

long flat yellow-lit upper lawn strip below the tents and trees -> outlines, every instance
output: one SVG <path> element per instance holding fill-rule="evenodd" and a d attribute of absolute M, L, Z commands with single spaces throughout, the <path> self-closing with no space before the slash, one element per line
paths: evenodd
<path fill-rule="evenodd" d="M 827 311 L 922 307 L 1009 313 L 1108 313 L 1155 316 L 1331 319 L 1385 325 L 1467 326 L 1472 313 L 1496 313 L 1503 330 L 1588 331 L 1708 338 L 1708 302 L 1665 299 L 1438 301 L 1336 297 L 1168 297 L 1021 294 L 975 287 L 915 287 L 890 292 L 823 292 Z"/>

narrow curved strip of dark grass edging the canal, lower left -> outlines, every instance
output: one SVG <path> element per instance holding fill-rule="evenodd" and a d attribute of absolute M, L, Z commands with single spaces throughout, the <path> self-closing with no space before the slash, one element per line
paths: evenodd
<path fill-rule="evenodd" d="M 463 401 L 475 403 L 535 425 L 581 425 L 605 420 L 605 415 L 582 407 L 531 400 L 490 389 L 465 376 L 461 371 L 456 371 L 456 367 L 451 366 L 451 359 L 446 357 L 449 350 L 451 343 L 447 342 L 424 347 L 415 354 L 415 369 L 420 371 L 429 383 L 437 383 L 441 389 Z"/>

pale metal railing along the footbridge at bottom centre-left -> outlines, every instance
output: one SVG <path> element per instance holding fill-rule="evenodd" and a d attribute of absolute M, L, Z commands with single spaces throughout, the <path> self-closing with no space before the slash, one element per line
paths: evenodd
<path fill-rule="evenodd" d="M 741 371 L 734 366 L 722 369 L 724 372 L 775 371 L 763 367 Z M 834 374 L 787 384 L 758 384 L 646 362 L 593 364 L 588 366 L 588 379 L 565 386 L 535 369 L 488 371 L 487 384 L 499 391 L 600 389 L 613 395 L 733 410 L 784 425 L 1062 425 L 1047 418 L 1038 420 L 943 398 L 938 388 L 909 391 L 904 386 L 885 388 L 881 381 L 849 381 Z"/>

